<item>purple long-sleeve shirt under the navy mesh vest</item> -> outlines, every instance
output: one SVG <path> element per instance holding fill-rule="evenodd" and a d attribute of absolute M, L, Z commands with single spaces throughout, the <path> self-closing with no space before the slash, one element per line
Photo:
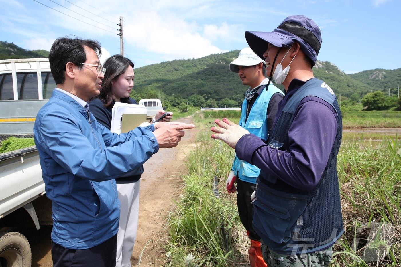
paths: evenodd
<path fill-rule="evenodd" d="M 304 81 L 291 81 L 284 99 L 279 103 L 274 126 L 288 99 Z M 288 130 L 290 151 L 278 150 L 265 144 L 259 137 L 246 134 L 235 146 L 240 160 L 257 166 L 286 184 L 304 191 L 318 184 L 326 167 L 337 133 L 337 113 L 319 97 L 302 99 Z"/>

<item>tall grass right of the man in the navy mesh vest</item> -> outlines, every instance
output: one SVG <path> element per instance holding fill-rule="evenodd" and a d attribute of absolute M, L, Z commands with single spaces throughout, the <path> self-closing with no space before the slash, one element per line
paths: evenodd
<path fill-rule="evenodd" d="M 338 178 L 345 233 L 334 257 L 341 266 L 401 265 L 401 142 L 343 144 Z M 370 256 L 369 256 L 370 255 Z M 370 260 L 377 258 L 378 261 Z M 373 257 L 374 256 L 374 257 Z"/>

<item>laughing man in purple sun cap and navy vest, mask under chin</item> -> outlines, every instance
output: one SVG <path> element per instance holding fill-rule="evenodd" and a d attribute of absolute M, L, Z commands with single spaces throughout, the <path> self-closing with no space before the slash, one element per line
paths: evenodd
<path fill-rule="evenodd" d="M 245 38 L 265 59 L 269 79 L 282 83 L 286 93 L 265 142 L 227 119 L 216 120 L 220 128 L 212 138 L 261 169 L 253 228 L 267 265 L 328 266 L 344 232 L 336 170 L 342 117 L 333 90 L 312 71 L 320 28 L 296 15 L 273 32 L 245 32 Z"/>

